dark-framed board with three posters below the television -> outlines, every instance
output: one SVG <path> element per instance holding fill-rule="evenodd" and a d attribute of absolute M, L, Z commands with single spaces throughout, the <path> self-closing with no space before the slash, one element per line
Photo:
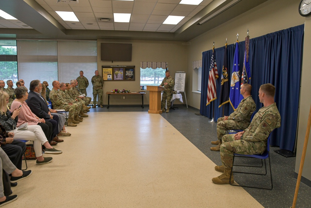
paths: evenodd
<path fill-rule="evenodd" d="M 129 81 L 135 80 L 135 66 L 102 66 L 103 80 Z"/>

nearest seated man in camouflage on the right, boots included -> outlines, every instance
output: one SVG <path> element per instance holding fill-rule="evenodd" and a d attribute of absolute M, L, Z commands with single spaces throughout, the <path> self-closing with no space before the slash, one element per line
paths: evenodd
<path fill-rule="evenodd" d="M 258 110 L 248 128 L 236 134 L 226 134 L 222 137 L 220 145 L 220 158 L 222 165 L 215 170 L 223 172 L 212 178 L 213 183 L 229 184 L 232 169 L 233 154 L 253 155 L 262 154 L 267 148 L 269 134 L 281 126 L 281 116 L 274 102 L 275 87 L 268 83 L 260 86 L 259 100 L 263 107 Z M 233 176 L 231 183 L 234 182 Z"/>

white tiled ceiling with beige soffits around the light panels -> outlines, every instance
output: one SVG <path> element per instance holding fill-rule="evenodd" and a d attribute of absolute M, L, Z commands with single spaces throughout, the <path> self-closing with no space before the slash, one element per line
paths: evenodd
<path fill-rule="evenodd" d="M 203 0 L 197 6 L 180 1 L 0 0 L 0 9 L 18 19 L 0 17 L 0 39 L 189 41 L 267 0 Z M 232 2 L 232 7 L 223 9 Z M 210 21 L 198 25 L 220 10 Z M 63 21 L 55 11 L 74 12 L 79 22 Z M 114 22 L 113 13 L 131 13 L 130 22 Z M 185 17 L 177 25 L 163 24 L 169 15 Z"/>

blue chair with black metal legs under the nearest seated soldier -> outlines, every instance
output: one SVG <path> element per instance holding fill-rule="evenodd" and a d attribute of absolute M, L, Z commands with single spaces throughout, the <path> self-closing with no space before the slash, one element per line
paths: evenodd
<path fill-rule="evenodd" d="M 272 131 L 273 132 L 273 131 Z M 272 133 L 271 132 L 271 133 Z M 230 179 L 229 179 L 229 183 L 231 186 L 242 186 L 242 187 L 248 187 L 248 188 L 258 188 L 258 189 L 267 189 L 267 190 L 271 190 L 273 188 L 273 184 L 272 184 L 272 172 L 271 172 L 271 162 L 270 162 L 270 137 L 271 137 L 271 133 L 268 136 L 268 141 L 267 141 L 267 148 L 265 150 L 265 152 L 262 153 L 262 155 L 258 154 L 258 155 L 241 155 L 241 154 L 233 154 L 233 160 L 232 160 L 232 169 L 231 169 L 231 174 L 230 174 Z M 261 166 L 249 166 L 249 165 L 234 165 L 234 157 L 253 157 L 253 158 L 259 158 L 261 159 Z M 266 176 L 267 175 L 267 164 L 266 164 L 266 159 L 269 159 L 269 167 L 270 167 L 270 178 L 271 178 L 271 188 L 265 188 L 265 187 L 256 187 L 256 186 L 244 186 L 244 185 L 235 185 L 235 184 L 231 184 L 231 176 L 232 173 L 244 173 L 244 174 L 253 174 L 253 175 L 262 175 L 262 176 Z M 262 160 L 264 160 L 265 162 L 265 173 L 250 173 L 250 172 L 235 172 L 233 171 L 233 166 L 242 166 L 242 167 L 263 167 L 263 162 Z"/>

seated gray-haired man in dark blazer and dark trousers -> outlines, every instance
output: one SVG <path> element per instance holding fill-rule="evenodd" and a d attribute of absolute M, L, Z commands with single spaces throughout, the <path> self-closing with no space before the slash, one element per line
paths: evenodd
<path fill-rule="evenodd" d="M 40 80 L 32 80 L 29 87 L 29 95 L 26 103 L 31 111 L 40 119 L 44 119 L 50 127 L 49 135 L 45 135 L 51 145 L 56 145 L 58 142 L 63 142 L 63 139 L 57 137 L 58 122 L 57 115 L 52 116 L 45 99 L 41 96 L 42 86 Z"/>

